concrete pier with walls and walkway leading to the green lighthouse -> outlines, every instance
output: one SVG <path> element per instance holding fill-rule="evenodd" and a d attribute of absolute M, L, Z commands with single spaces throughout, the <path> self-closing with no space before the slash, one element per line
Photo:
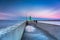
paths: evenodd
<path fill-rule="evenodd" d="M 28 21 L 1 31 L 0 40 L 60 40 L 59 30 L 60 25 Z"/>

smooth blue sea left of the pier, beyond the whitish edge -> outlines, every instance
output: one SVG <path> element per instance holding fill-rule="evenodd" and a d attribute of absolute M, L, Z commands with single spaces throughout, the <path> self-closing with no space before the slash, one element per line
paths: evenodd
<path fill-rule="evenodd" d="M 0 20 L 0 29 L 12 26 L 16 23 L 23 22 L 22 20 Z"/>

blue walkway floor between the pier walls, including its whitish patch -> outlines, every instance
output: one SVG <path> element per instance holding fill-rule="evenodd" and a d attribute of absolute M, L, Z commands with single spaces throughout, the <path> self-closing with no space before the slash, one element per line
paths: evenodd
<path fill-rule="evenodd" d="M 56 40 L 54 37 L 46 34 L 43 30 L 34 26 L 26 26 L 22 40 Z"/>

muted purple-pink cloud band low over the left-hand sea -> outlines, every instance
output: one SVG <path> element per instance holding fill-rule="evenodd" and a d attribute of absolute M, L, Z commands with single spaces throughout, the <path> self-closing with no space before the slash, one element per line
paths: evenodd
<path fill-rule="evenodd" d="M 22 16 L 21 13 L 2 13 L 0 12 L 0 20 L 13 20 L 16 17 Z"/>

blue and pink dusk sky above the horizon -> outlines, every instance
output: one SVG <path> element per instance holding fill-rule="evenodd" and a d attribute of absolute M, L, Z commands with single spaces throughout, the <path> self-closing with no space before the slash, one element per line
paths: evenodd
<path fill-rule="evenodd" d="M 58 0 L 0 0 L 0 20 L 20 20 L 20 17 L 60 19 Z"/>

